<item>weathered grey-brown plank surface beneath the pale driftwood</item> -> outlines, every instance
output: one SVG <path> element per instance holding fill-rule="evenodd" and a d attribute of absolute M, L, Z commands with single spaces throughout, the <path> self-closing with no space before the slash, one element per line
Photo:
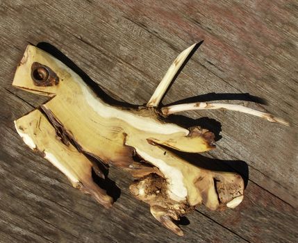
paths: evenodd
<path fill-rule="evenodd" d="M 297 22 L 294 0 L 0 0 L 0 242 L 297 242 Z M 13 120 L 45 101 L 11 86 L 28 42 L 56 47 L 115 99 L 142 104 L 172 60 L 199 40 L 163 103 L 224 99 L 272 112 L 291 127 L 238 112 L 183 114 L 219 139 L 197 158 L 248 179 L 238 208 L 200 206 L 190 224 L 181 222 L 185 237 L 160 226 L 129 194 L 123 171 L 110 171 L 121 196 L 106 210 L 17 135 Z"/>

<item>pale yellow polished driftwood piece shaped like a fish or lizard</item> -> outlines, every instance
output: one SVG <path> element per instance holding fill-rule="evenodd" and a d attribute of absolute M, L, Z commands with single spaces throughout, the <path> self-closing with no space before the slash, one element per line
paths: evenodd
<path fill-rule="evenodd" d="M 191 103 L 158 105 L 179 69 L 199 47 L 194 44 L 174 60 L 147 106 L 122 108 L 104 102 L 78 74 L 49 53 L 28 45 L 17 67 L 13 85 L 51 99 L 15 120 L 17 133 L 67 176 L 72 185 L 90 194 L 106 208 L 113 199 L 92 180 L 88 159 L 122 167 L 135 181 L 131 194 L 150 206 L 151 214 L 177 235 L 174 220 L 203 203 L 210 210 L 235 208 L 241 203 L 244 182 L 231 172 L 211 171 L 179 158 L 174 151 L 201 153 L 214 149 L 214 135 L 200 127 L 183 128 L 165 117 L 183 110 L 238 110 L 288 125 L 283 119 L 245 106 Z"/>

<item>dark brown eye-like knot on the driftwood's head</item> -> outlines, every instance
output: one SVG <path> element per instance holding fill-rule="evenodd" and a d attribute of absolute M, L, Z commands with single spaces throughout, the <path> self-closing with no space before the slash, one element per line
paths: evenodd
<path fill-rule="evenodd" d="M 51 68 L 39 62 L 32 63 L 31 78 L 36 86 L 53 86 L 59 83 L 57 74 Z"/>

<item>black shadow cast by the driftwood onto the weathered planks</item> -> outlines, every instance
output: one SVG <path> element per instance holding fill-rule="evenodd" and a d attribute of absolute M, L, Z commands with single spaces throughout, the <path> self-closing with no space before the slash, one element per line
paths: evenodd
<path fill-rule="evenodd" d="M 202 42 L 200 42 L 197 45 L 197 48 Z M 81 76 L 83 81 L 90 85 L 92 90 L 94 90 L 95 93 L 101 97 L 106 103 L 110 103 L 114 106 L 122 106 L 124 108 L 138 108 L 138 105 L 133 105 L 131 103 L 126 103 L 122 101 L 117 101 L 116 99 L 113 99 L 110 97 L 104 90 L 97 85 L 92 79 L 83 72 L 82 69 L 80 69 L 72 60 L 67 58 L 61 51 L 59 51 L 56 47 L 53 47 L 53 45 L 47 43 L 47 42 L 40 42 L 38 43 L 37 47 L 40 49 L 47 51 L 52 56 L 63 62 L 65 65 L 67 65 L 70 69 L 72 69 L 76 74 Z M 196 48 L 196 49 L 197 49 Z M 194 50 L 195 51 L 195 50 Z M 186 64 L 186 62 L 190 59 L 194 51 L 190 54 L 189 58 L 183 63 L 183 67 Z M 183 68 L 181 67 L 181 69 Z M 181 71 L 179 70 L 179 72 Z M 176 75 L 178 76 L 178 74 Z M 176 78 L 175 76 L 175 78 Z M 185 103 L 185 102 L 198 102 L 198 101 L 211 101 L 211 100 L 218 100 L 218 99 L 242 99 L 243 101 L 255 101 L 258 103 L 264 103 L 262 99 L 259 99 L 258 97 L 252 97 L 249 94 L 204 94 L 200 95 L 198 97 L 192 97 L 189 99 L 184 99 L 183 101 L 177 101 L 176 103 Z M 182 115 L 171 115 L 167 119 L 170 122 L 173 122 L 175 124 L 179 124 L 180 126 L 183 126 L 185 128 L 190 128 L 191 126 L 201 126 L 202 128 L 206 128 L 209 131 L 212 131 L 215 134 L 215 140 L 220 140 L 220 131 L 221 130 L 221 124 L 219 121 L 216 121 L 215 119 L 209 119 L 208 117 L 201 117 L 199 119 L 191 119 L 189 117 L 185 117 Z M 168 149 L 168 148 L 167 148 Z M 249 178 L 249 171 L 247 163 L 240 160 L 217 160 L 213 158 L 207 158 L 205 156 L 202 156 L 201 154 L 194 154 L 194 153 L 181 153 L 179 151 L 173 151 L 176 153 L 177 156 L 188 160 L 193 165 L 196 165 L 198 167 L 202 167 L 204 169 L 210 169 L 214 171 L 233 171 L 238 172 L 240 176 L 245 181 L 245 186 L 247 185 L 247 181 Z M 102 165 L 101 162 L 99 162 L 99 166 Z M 113 181 L 108 179 L 108 170 L 101 167 L 101 169 L 104 171 L 104 174 L 106 176 L 106 179 L 101 179 L 99 176 L 97 176 L 94 171 L 92 171 L 92 177 L 94 178 L 94 181 L 98 183 L 103 189 L 107 190 L 108 194 L 113 197 L 113 199 L 116 201 L 119 198 L 119 195 L 121 193 L 121 190 Z M 182 219 L 179 221 L 179 224 L 189 224 L 188 219 Z"/>

